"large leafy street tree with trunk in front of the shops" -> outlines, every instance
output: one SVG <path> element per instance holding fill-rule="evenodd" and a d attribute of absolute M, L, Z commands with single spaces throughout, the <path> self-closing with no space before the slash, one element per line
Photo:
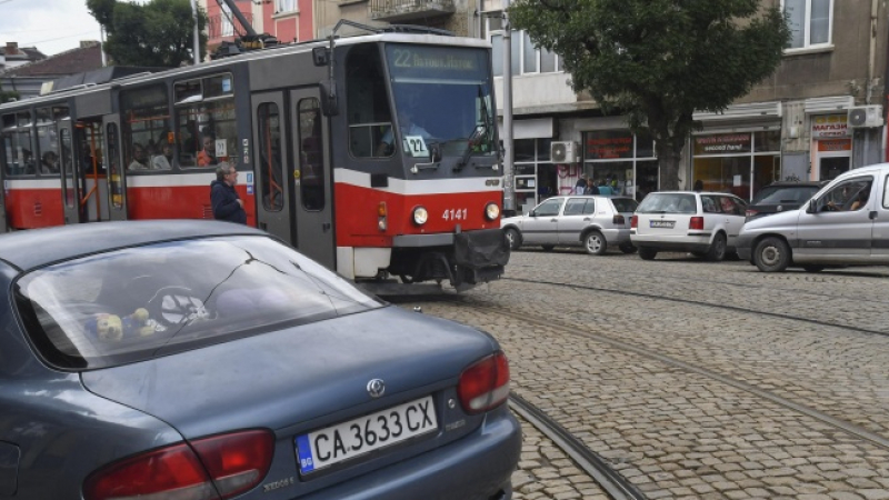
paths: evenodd
<path fill-rule="evenodd" d="M 679 158 L 700 128 L 775 72 L 790 40 L 785 16 L 759 0 L 516 0 L 509 19 L 561 57 L 575 91 L 627 116 L 657 141 L 661 189 L 679 188 Z"/>

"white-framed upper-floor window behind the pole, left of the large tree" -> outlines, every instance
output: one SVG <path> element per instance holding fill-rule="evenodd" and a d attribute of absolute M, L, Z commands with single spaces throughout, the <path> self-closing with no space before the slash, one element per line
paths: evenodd
<path fill-rule="evenodd" d="M 493 76 L 503 76 L 503 21 L 499 13 L 486 18 L 486 32 L 491 41 Z M 558 56 L 545 48 L 535 47 L 531 37 L 523 30 L 510 32 L 512 74 L 555 73 L 561 71 Z"/>

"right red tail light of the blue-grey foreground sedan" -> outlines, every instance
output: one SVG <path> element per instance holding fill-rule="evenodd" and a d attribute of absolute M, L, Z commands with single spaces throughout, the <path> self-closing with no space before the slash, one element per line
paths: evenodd
<path fill-rule="evenodd" d="M 481 413 L 509 398 L 509 361 L 501 351 L 478 361 L 460 373 L 457 396 L 463 411 Z"/>

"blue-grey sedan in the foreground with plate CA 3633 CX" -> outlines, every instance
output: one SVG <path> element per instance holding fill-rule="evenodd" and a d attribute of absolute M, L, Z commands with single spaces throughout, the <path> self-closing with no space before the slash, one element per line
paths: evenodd
<path fill-rule="evenodd" d="M 498 342 L 216 221 L 0 237 L 0 494 L 509 499 Z"/>

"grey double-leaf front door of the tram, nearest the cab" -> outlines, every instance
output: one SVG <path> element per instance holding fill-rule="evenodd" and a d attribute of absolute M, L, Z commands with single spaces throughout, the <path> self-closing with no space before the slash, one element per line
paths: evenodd
<path fill-rule="evenodd" d="M 317 89 L 252 97 L 257 224 L 336 269 L 327 120 Z"/>

